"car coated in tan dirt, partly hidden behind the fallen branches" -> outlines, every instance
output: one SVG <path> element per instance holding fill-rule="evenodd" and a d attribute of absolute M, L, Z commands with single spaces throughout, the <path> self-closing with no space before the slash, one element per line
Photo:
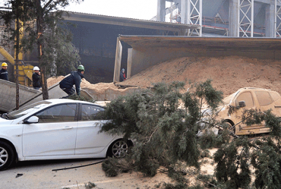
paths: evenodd
<path fill-rule="evenodd" d="M 229 113 L 230 108 L 235 108 Z M 259 134 L 270 132 L 265 123 L 261 125 L 246 125 L 242 123 L 242 113 L 245 109 L 257 111 L 271 110 L 275 116 L 281 117 L 281 96 L 278 92 L 254 87 L 244 87 L 223 99 L 218 107 L 217 120 L 223 120 L 228 127 L 233 127 L 236 135 Z M 217 132 L 217 130 L 214 130 Z"/>

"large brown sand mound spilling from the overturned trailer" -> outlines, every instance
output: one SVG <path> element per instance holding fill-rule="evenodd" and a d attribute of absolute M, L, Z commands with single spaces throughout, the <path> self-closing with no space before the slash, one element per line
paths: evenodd
<path fill-rule="evenodd" d="M 241 87 L 261 87 L 281 93 L 281 61 L 247 57 L 181 57 L 141 71 L 123 85 L 150 87 L 152 83 L 185 83 L 210 78 L 212 85 L 232 94 Z M 121 84 L 121 83 L 120 83 Z M 188 87 L 188 84 L 186 85 Z"/>

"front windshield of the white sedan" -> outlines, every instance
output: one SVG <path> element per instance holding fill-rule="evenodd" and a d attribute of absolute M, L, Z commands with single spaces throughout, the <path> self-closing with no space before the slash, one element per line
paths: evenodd
<path fill-rule="evenodd" d="M 51 102 L 40 101 L 34 104 L 30 104 L 28 106 L 23 107 L 22 109 L 12 111 L 11 113 L 6 114 L 6 118 L 8 118 L 8 120 L 20 118 L 22 116 L 25 116 L 27 113 L 34 111 L 35 109 L 40 109 L 42 106 L 46 106 L 47 104 L 51 104 Z"/>

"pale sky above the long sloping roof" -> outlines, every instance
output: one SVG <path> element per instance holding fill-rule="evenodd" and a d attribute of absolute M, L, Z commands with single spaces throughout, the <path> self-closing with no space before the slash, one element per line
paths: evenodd
<path fill-rule="evenodd" d="M 150 20 L 157 15 L 157 0 L 84 0 L 71 3 L 64 10 Z"/>

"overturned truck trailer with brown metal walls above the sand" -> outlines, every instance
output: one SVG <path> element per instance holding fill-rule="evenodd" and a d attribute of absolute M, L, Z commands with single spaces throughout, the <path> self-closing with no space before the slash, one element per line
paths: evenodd
<path fill-rule="evenodd" d="M 131 48 L 123 49 L 122 43 Z M 150 66 L 179 57 L 281 59 L 281 38 L 119 36 L 114 82 L 119 82 L 122 52 L 125 50 L 128 50 L 127 78 L 130 78 Z"/>

